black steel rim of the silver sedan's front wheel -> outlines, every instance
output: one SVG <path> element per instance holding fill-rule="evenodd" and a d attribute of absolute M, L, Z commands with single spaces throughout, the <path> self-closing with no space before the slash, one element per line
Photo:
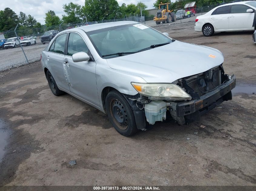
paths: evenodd
<path fill-rule="evenodd" d="M 115 124 L 119 129 L 125 130 L 128 128 L 129 119 L 125 107 L 117 99 L 112 99 L 110 102 L 110 112 Z"/>

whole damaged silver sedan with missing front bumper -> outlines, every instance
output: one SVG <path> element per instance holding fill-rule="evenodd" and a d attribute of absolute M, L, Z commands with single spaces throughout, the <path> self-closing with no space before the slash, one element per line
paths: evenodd
<path fill-rule="evenodd" d="M 236 80 L 224 74 L 217 49 L 133 21 L 64 30 L 41 61 L 54 95 L 66 92 L 108 114 L 125 136 L 167 118 L 180 125 L 198 120 L 232 99 Z"/>

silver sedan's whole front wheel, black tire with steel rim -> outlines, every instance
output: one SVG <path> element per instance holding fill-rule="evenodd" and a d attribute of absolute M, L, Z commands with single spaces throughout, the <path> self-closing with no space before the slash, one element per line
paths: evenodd
<path fill-rule="evenodd" d="M 134 135 L 138 129 L 133 110 L 125 97 L 116 90 L 106 97 L 108 118 L 115 130 L 124 136 Z"/>

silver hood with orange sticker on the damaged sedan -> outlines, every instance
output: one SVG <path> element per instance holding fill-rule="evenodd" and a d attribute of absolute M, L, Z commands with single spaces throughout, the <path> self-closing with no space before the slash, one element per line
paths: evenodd
<path fill-rule="evenodd" d="M 139 76 L 148 83 L 171 83 L 205 72 L 223 61 L 223 54 L 217 49 L 177 40 L 143 52 L 107 59 L 109 67 Z"/>

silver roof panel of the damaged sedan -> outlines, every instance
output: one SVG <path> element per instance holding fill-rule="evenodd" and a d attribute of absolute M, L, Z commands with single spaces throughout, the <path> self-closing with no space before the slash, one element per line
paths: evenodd
<path fill-rule="evenodd" d="M 82 26 L 82 27 L 67 29 L 67 30 L 63 30 L 62 32 L 76 31 L 76 29 L 78 29 L 78 30 L 81 29 L 81 30 L 84 30 L 85 32 L 89 32 L 92 30 L 121 26 L 121 25 L 125 25 L 125 24 L 141 24 L 141 23 L 138 23 L 135 21 L 117 21 L 117 22 L 109 22 L 109 23 L 99 23 L 99 24 L 91 24 L 91 25 L 86 25 L 86 26 Z"/>

